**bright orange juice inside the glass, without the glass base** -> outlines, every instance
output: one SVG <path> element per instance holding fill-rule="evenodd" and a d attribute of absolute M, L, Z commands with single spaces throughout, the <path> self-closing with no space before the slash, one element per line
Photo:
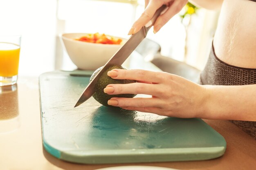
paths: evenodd
<path fill-rule="evenodd" d="M 0 76 L 18 75 L 20 46 L 0 42 Z"/>

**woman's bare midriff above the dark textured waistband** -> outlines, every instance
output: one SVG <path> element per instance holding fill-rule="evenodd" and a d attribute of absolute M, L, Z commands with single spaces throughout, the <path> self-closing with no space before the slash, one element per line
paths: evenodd
<path fill-rule="evenodd" d="M 213 46 L 221 61 L 256 68 L 256 2 L 223 1 Z"/>

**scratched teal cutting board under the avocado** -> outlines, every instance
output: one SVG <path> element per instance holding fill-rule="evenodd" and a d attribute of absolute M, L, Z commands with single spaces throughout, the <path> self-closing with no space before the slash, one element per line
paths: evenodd
<path fill-rule="evenodd" d="M 58 159 L 133 163 L 206 160 L 224 154 L 225 139 L 201 119 L 108 108 L 94 98 L 74 108 L 90 74 L 40 75 L 43 146 Z"/>

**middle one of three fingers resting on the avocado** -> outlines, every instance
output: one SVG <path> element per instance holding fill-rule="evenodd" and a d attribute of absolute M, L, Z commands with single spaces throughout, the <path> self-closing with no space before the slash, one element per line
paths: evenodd
<path fill-rule="evenodd" d="M 114 94 L 148 94 L 159 96 L 162 94 L 158 85 L 147 83 L 110 84 L 104 89 L 110 95 Z"/>

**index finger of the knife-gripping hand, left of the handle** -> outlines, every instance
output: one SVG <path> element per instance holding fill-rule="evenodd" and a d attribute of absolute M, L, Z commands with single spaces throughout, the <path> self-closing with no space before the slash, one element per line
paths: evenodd
<path fill-rule="evenodd" d="M 135 23 L 132 25 L 132 28 L 129 31 L 128 35 L 137 33 L 141 29 L 141 27 L 146 25 L 151 20 L 157 9 L 159 9 L 161 6 L 162 2 L 159 0 L 150 1 L 139 19 L 135 21 Z"/>

